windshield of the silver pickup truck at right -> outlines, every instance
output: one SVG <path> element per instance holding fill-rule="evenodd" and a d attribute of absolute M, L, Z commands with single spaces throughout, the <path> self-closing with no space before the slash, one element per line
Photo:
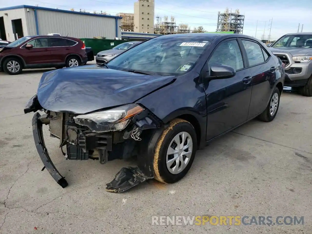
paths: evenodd
<path fill-rule="evenodd" d="M 272 47 L 312 48 L 312 34 L 285 35 L 276 41 Z"/>

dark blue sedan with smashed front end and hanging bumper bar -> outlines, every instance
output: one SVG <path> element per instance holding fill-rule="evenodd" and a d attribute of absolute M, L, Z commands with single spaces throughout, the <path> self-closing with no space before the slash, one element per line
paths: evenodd
<path fill-rule="evenodd" d="M 156 57 L 157 55 L 157 57 Z M 155 37 L 100 66 L 45 72 L 24 113 L 39 156 L 63 188 L 43 140 L 42 125 L 70 160 L 104 164 L 134 155 L 107 184 L 123 192 L 155 178 L 182 179 L 197 149 L 258 117 L 272 121 L 285 71 L 261 41 L 240 34 L 190 33 Z"/>

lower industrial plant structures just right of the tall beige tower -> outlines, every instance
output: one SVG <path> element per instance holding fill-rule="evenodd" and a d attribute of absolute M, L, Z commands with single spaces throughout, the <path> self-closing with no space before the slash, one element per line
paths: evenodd
<path fill-rule="evenodd" d="M 168 34 L 176 34 L 176 33 L 189 33 L 190 28 L 188 24 L 179 24 L 177 25 L 173 16 L 171 16 L 170 21 L 168 21 L 168 16 L 162 18 L 157 16 L 157 23 L 154 27 L 154 33 L 161 34 L 161 35 L 168 35 Z"/>

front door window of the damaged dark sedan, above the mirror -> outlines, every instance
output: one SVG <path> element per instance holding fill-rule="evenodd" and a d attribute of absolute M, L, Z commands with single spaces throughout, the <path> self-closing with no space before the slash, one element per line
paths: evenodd
<path fill-rule="evenodd" d="M 238 42 L 236 40 L 221 42 L 217 49 L 212 52 L 212 56 L 208 61 L 208 66 L 213 64 L 231 66 L 236 71 L 244 68 Z"/>

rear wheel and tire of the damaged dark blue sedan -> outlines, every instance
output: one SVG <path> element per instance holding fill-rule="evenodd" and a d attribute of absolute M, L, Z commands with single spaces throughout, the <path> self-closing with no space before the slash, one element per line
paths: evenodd
<path fill-rule="evenodd" d="M 275 118 L 279 106 L 280 106 L 280 90 L 277 87 L 275 87 L 273 94 L 270 98 L 270 102 L 266 107 L 266 110 L 264 110 L 261 113 L 261 115 L 258 116 L 258 119 L 264 122 L 271 122 Z"/>

